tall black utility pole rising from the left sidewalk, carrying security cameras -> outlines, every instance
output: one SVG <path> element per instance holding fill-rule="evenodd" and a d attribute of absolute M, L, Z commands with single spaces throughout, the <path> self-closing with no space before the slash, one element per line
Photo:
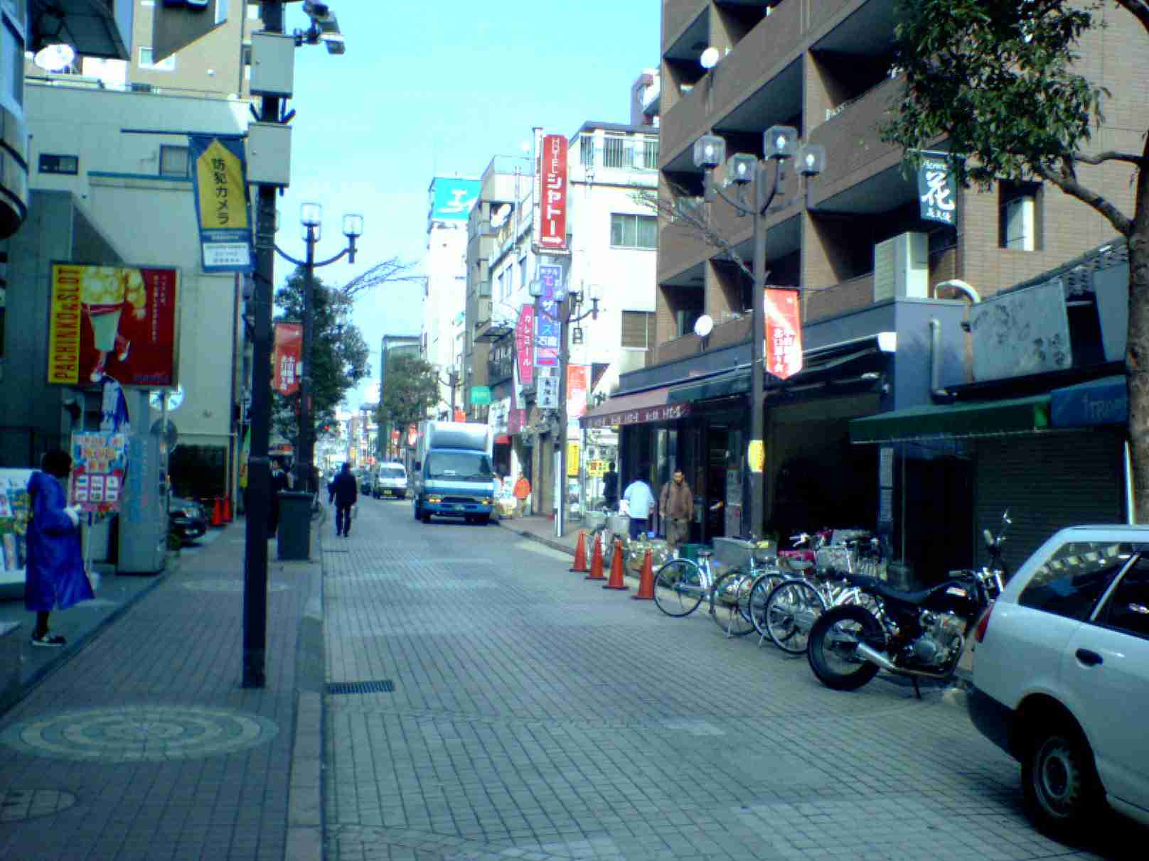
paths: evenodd
<path fill-rule="evenodd" d="M 284 31 L 280 0 L 263 0 L 263 29 Z M 279 98 L 264 95 L 260 122 L 279 122 Z M 259 191 L 255 278 L 252 293 L 252 449 L 247 461 L 247 533 L 244 552 L 244 680 L 245 688 L 267 683 L 268 649 L 268 514 L 271 510 L 271 470 L 268 442 L 271 425 L 271 302 L 276 267 L 276 187 Z"/>

